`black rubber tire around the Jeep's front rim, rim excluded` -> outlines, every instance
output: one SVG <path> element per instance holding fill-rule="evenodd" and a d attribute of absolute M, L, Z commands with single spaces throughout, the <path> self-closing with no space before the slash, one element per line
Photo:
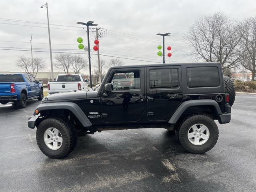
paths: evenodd
<path fill-rule="evenodd" d="M 44 132 L 51 127 L 58 129 L 62 135 L 62 146 L 57 150 L 48 148 L 44 142 Z M 64 158 L 76 147 L 76 130 L 74 126 L 68 121 L 64 121 L 60 118 L 48 118 L 39 124 L 36 130 L 36 142 L 40 150 L 46 156 L 54 159 Z"/>

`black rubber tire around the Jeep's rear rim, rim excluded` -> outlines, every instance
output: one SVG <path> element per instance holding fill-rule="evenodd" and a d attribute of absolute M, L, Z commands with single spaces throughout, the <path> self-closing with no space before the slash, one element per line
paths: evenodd
<path fill-rule="evenodd" d="M 194 145 L 188 140 L 188 131 L 194 124 L 204 124 L 209 129 L 209 138 L 202 145 Z M 218 126 L 212 118 L 203 114 L 196 114 L 185 118 L 178 129 L 178 139 L 181 146 L 190 153 L 202 154 L 211 150 L 219 136 Z"/>

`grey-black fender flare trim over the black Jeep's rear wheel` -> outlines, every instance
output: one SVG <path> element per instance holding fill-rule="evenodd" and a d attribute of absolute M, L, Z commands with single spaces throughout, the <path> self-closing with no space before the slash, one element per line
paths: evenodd
<path fill-rule="evenodd" d="M 184 113 L 184 111 L 191 106 L 206 106 L 206 105 L 213 106 L 216 112 L 218 113 L 218 115 L 222 114 L 220 110 L 220 106 L 215 100 L 212 100 L 212 99 L 190 100 L 180 104 L 180 106 L 176 109 L 176 111 L 174 112 L 174 114 L 172 115 L 168 123 L 175 124 L 179 120 L 180 116 Z"/>

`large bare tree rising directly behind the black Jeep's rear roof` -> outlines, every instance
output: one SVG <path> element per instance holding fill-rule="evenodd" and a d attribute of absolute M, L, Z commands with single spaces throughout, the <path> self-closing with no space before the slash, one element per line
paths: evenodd
<path fill-rule="evenodd" d="M 223 70 L 235 67 L 242 57 L 238 26 L 223 13 L 200 17 L 189 27 L 184 40 L 193 47 L 196 60 L 220 62 Z"/>

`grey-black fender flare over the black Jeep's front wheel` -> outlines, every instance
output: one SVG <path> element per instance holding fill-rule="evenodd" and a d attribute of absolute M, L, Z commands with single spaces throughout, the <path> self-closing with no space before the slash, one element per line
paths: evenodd
<path fill-rule="evenodd" d="M 70 110 L 74 116 L 81 122 L 82 126 L 89 127 L 92 126 L 92 123 L 88 119 L 88 117 L 84 114 L 82 109 L 75 103 L 72 102 L 56 102 L 56 103 L 42 103 L 38 105 L 36 108 L 38 113 L 44 110 L 53 110 L 53 109 L 67 109 Z M 36 116 L 36 112 L 34 112 L 34 116 Z"/>

